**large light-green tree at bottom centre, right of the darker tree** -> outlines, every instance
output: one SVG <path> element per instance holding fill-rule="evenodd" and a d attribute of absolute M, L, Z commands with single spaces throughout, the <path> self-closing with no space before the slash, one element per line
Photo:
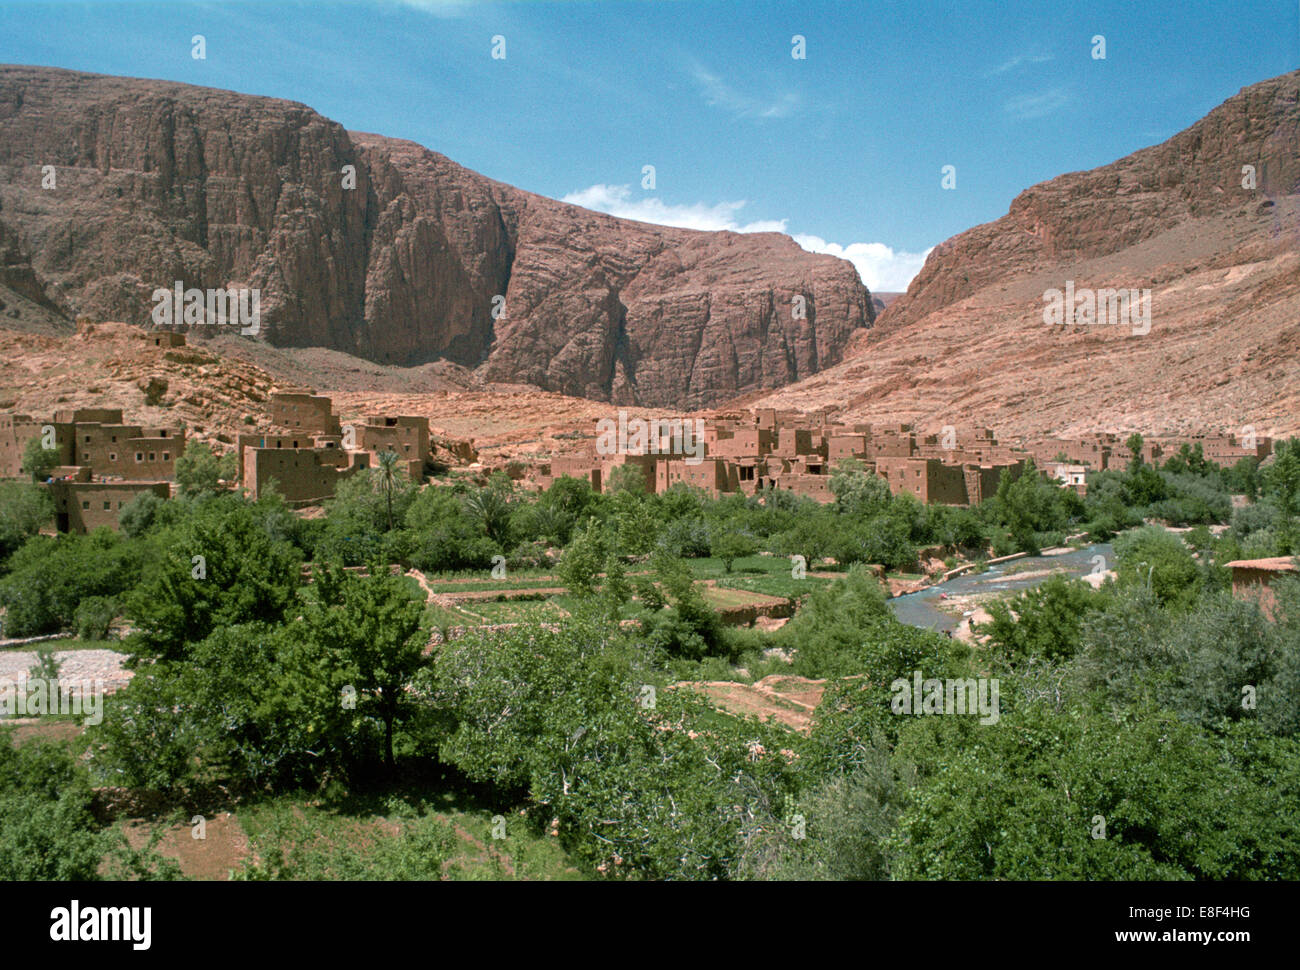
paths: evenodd
<path fill-rule="evenodd" d="M 792 788 L 776 728 L 718 718 L 653 688 L 607 618 L 471 632 L 439 650 L 439 757 L 558 819 L 562 844 L 607 876 L 725 878 L 762 805 Z M 707 724 L 707 727 L 705 727 Z"/>

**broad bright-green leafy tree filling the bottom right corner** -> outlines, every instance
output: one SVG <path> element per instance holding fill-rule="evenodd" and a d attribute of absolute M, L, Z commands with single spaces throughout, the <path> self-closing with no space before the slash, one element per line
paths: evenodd
<path fill-rule="evenodd" d="M 894 757 L 920 779 L 890 837 L 896 878 L 1290 879 L 1300 870 L 1294 845 L 1277 852 L 1269 819 L 1275 800 L 1295 798 L 1296 770 L 1261 784 L 1167 711 L 1117 719 L 1039 702 L 992 727 L 910 718 Z"/>

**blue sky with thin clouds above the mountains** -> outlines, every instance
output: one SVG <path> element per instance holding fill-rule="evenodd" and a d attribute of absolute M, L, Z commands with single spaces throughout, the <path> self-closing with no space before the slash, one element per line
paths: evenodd
<path fill-rule="evenodd" d="M 590 208 L 786 231 L 893 290 L 931 246 L 1004 215 L 1027 186 L 1161 142 L 1300 68 L 1297 8 L 9 1 L 0 61 L 303 101 Z M 504 59 L 491 56 L 498 35 Z"/>

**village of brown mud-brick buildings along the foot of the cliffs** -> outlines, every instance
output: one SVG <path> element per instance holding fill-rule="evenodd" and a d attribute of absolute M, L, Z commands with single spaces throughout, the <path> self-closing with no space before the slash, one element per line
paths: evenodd
<path fill-rule="evenodd" d="M 185 334 L 142 330 L 155 346 L 185 346 Z M 818 502 L 832 502 L 831 469 L 857 460 L 884 478 L 893 494 L 910 493 L 922 503 L 976 506 L 992 497 L 1002 475 L 1018 478 L 1032 459 L 1039 473 L 1063 488 L 1086 494 L 1086 475 L 1127 460 L 1121 436 L 1096 433 L 1082 438 L 1044 438 L 1018 445 L 998 443 L 988 428 L 959 432 L 945 428 L 918 434 L 910 424 L 838 424 L 832 408 L 812 413 L 759 408 L 706 416 L 677 415 L 633 419 L 627 412 L 618 439 L 602 447 L 598 423 L 585 446 L 529 464 L 519 460 L 498 467 L 477 460 L 472 441 L 448 445 L 459 465 L 486 480 L 500 471 L 521 486 L 546 490 L 560 477 L 588 482 L 601 492 L 618 467 L 645 477 L 646 489 L 664 493 L 677 482 L 718 497 L 727 493 L 762 495 L 781 489 Z M 611 423 L 612 419 L 602 419 Z M 692 429 L 699 426 L 699 432 Z M 257 433 L 240 433 L 231 449 L 238 478 L 229 482 L 251 498 L 273 486 L 295 507 L 318 506 L 334 495 L 339 480 L 377 467 L 377 456 L 391 451 L 402 475 L 412 482 L 439 485 L 429 475 L 437 459 L 430 451 L 429 419 L 412 415 L 364 415 L 344 420 L 328 397 L 311 389 L 270 394 L 263 415 L 250 424 Z M 685 429 L 685 434 L 684 434 Z M 640 434 L 638 434 L 640 432 Z M 44 484 L 57 507 L 60 532 L 90 532 L 117 527 L 117 512 L 143 493 L 170 497 L 174 462 L 186 449 L 186 428 L 144 428 L 124 424 L 122 411 L 72 408 L 49 416 L 0 413 L 0 476 L 22 477 L 27 443 L 42 439 L 57 454 Z M 1228 468 L 1244 458 L 1262 462 L 1271 454 L 1266 436 L 1201 434 L 1190 438 L 1144 438 L 1141 458 L 1150 464 L 1180 449 Z"/>

